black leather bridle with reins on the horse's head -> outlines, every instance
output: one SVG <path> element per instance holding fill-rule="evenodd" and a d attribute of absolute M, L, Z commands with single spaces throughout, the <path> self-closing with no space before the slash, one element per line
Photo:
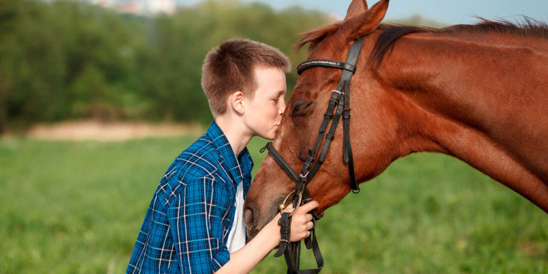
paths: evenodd
<path fill-rule="evenodd" d="M 315 274 L 319 273 L 323 268 L 323 257 L 320 253 L 320 248 L 318 246 L 318 241 L 316 239 L 315 228 L 310 230 L 310 237 L 305 239 L 305 245 L 308 249 L 312 248 L 316 264 L 318 268 L 299 270 L 299 261 L 300 261 L 300 242 L 290 243 L 290 217 L 295 213 L 301 203 L 308 203 L 312 201 L 310 193 L 306 186 L 314 178 L 320 166 L 322 166 L 325 156 L 328 154 L 329 146 L 331 141 L 335 136 L 335 129 L 340 121 L 342 116 L 342 126 L 343 126 L 343 160 L 348 164 L 348 173 L 350 174 L 350 183 L 352 183 L 352 192 L 360 192 L 360 187 L 357 184 L 354 172 L 354 160 L 352 158 L 352 146 L 350 146 L 350 80 L 352 75 L 356 71 L 356 62 L 358 56 L 360 56 L 360 51 L 362 49 L 363 37 L 350 46 L 350 51 L 348 51 L 348 56 L 346 62 L 333 61 L 330 59 L 312 59 L 304 61 L 299 66 L 297 66 L 297 73 L 303 73 L 303 71 L 309 68 L 338 68 L 342 70 L 340 76 L 340 81 L 337 86 L 337 89 L 331 91 L 331 98 L 329 100 L 329 105 L 327 111 L 323 116 L 323 121 L 320 125 L 320 130 L 318 137 L 314 143 L 312 150 L 308 150 L 308 157 L 306 158 L 303 168 L 300 171 L 300 175 L 297 175 L 293 168 L 280 156 L 280 153 L 275 150 L 272 142 L 268 142 L 264 148 L 260 150 L 263 152 L 265 149 L 268 150 L 270 156 L 280 165 L 280 167 L 288 174 L 288 176 L 295 182 L 295 191 L 292 191 L 285 197 L 283 203 L 280 204 L 279 210 L 281 218 L 279 221 L 280 224 L 280 245 L 278 247 L 278 252 L 275 253 L 275 257 L 280 257 L 282 254 L 285 255 L 285 263 L 288 265 L 288 273 L 301 273 L 301 274 Z M 331 125 L 327 135 L 325 130 L 328 128 L 328 123 L 331 121 Z M 316 158 L 318 154 L 318 149 L 320 148 L 320 143 L 324 139 L 320 155 Z M 293 206 L 294 210 L 290 213 L 283 212 L 285 209 L 285 204 L 288 202 L 288 199 L 293 196 Z M 320 215 L 312 212 L 315 220 L 320 219 Z"/>

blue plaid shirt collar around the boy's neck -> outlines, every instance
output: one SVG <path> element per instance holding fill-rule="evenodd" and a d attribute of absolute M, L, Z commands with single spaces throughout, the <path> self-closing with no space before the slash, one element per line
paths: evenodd
<path fill-rule="evenodd" d="M 253 160 L 251 159 L 248 148 L 243 148 L 243 151 L 238 155 L 238 158 L 236 158 L 225 133 L 223 133 L 215 120 L 211 122 L 208 128 L 208 136 L 213 141 L 213 146 L 217 148 L 219 156 L 223 158 L 225 164 L 228 166 L 230 175 L 237 185 L 243 180 L 245 174 L 250 173 L 253 168 Z"/>

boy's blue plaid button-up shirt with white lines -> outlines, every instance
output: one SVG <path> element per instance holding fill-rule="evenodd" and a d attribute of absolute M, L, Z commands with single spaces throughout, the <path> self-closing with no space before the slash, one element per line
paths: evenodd
<path fill-rule="evenodd" d="M 236 158 L 215 121 L 169 166 L 148 207 L 126 273 L 214 273 L 230 260 L 235 193 L 253 161 Z"/>

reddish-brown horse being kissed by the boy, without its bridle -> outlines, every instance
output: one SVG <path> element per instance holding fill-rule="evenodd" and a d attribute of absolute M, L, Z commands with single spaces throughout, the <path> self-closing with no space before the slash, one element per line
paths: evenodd
<path fill-rule="evenodd" d="M 388 0 L 353 0 L 344 21 L 309 31 L 309 59 L 345 61 L 365 36 L 350 86 L 350 136 L 358 181 L 418 151 L 455 156 L 548 212 L 548 26 L 482 21 L 444 29 L 380 24 Z M 295 85 L 274 147 L 299 171 L 340 70 L 310 68 Z M 273 179 L 275 178 L 275 179 Z M 250 237 L 295 183 L 267 156 L 245 200 Z M 339 123 L 308 184 L 318 212 L 351 189 Z"/>

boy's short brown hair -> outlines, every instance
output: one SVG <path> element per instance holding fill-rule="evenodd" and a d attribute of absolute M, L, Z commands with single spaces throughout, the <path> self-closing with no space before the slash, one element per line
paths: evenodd
<path fill-rule="evenodd" d="M 202 66 L 202 88 L 213 116 L 225 113 L 230 93 L 254 95 L 256 66 L 278 67 L 285 72 L 291 69 L 288 57 L 281 51 L 257 41 L 230 39 L 209 51 Z"/>

